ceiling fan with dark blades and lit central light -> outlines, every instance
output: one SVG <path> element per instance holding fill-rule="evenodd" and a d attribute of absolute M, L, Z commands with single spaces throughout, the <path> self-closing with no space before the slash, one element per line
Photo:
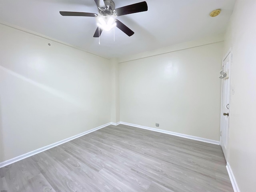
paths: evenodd
<path fill-rule="evenodd" d="M 125 24 L 117 20 L 116 16 L 122 16 L 126 14 L 138 13 L 148 10 L 148 5 L 146 1 L 131 4 L 128 6 L 115 8 L 115 3 L 113 0 L 94 0 L 98 6 L 99 15 L 96 13 L 86 13 L 86 12 L 68 12 L 60 11 L 62 16 L 84 16 L 84 17 L 96 17 L 97 29 L 93 37 L 100 37 L 103 30 L 110 30 L 113 27 L 117 27 L 122 30 L 128 36 L 132 36 L 134 32 L 128 28 Z"/>

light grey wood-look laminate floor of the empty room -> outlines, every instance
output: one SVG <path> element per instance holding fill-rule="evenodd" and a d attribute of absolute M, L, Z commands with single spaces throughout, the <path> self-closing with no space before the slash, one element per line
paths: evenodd
<path fill-rule="evenodd" d="M 0 169 L 8 192 L 233 192 L 220 146 L 102 128 Z"/>

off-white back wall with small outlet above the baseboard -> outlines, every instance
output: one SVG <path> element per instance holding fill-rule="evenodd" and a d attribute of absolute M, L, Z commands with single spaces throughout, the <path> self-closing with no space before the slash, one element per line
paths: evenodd
<path fill-rule="evenodd" d="M 120 121 L 219 141 L 222 48 L 216 42 L 121 58 Z"/>

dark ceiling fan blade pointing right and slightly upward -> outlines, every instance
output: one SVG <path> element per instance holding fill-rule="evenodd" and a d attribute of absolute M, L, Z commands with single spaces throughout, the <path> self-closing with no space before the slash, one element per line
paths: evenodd
<path fill-rule="evenodd" d="M 146 1 L 144 1 L 140 3 L 135 3 L 128 6 L 116 8 L 113 11 L 113 13 L 116 14 L 117 16 L 121 16 L 121 15 L 127 15 L 131 13 L 143 12 L 147 10 L 148 10 L 148 4 Z"/>

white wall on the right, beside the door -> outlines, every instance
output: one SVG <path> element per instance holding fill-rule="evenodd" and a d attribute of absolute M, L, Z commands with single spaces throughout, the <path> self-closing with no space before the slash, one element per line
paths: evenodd
<path fill-rule="evenodd" d="M 241 192 L 256 190 L 256 1 L 238 0 L 224 54 L 233 49 L 229 163 Z"/>

